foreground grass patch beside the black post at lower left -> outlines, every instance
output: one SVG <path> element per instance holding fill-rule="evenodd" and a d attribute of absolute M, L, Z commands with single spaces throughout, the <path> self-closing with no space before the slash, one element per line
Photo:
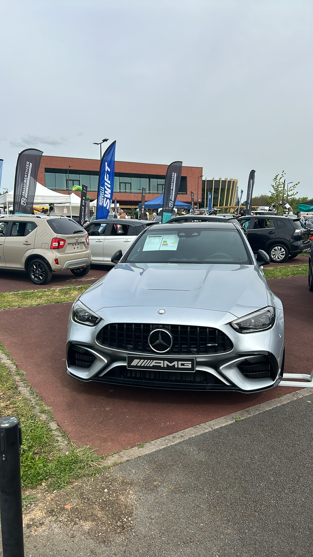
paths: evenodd
<path fill-rule="evenodd" d="M 0 349 L 7 355 L 3 346 Z M 19 372 L 19 375 L 22 377 L 23 373 Z M 0 363 L 0 389 L 0 416 L 16 416 L 22 427 L 23 488 L 46 485 L 55 490 L 99 470 L 101 458 L 89 447 L 77 447 L 66 439 L 69 452 L 59 454 L 56 438 L 48 423 L 37 416 L 30 400 L 19 392 L 11 372 L 3 363 Z M 36 393 L 34 395 L 42 411 L 51 414 Z"/>

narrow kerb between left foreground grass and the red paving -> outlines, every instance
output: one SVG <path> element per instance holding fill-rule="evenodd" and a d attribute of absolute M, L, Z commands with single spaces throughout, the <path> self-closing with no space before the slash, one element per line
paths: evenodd
<path fill-rule="evenodd" d="M 56 438 L 60 455 L 65 455 L 69 451 L 69 444 L 66 439 L 63 438 L 61 429 L 58 427 L 56 422 L 51 421 L 50 416 L 41 411 L 40 405 L 37 402 L 36 397 L 32 394 L 30 387 L 22 380 L 18 375 L 17 367 L 12 363 L 9 358 L 2 351 L 0 351 L 0 361 L 2 364 L 6 365 L 9 372 L 12 374 L 14 381 L 16 382 L 19 393 L 21 393 L 27 400 L 30 401 L 33 412 L 38 416 L 38 418 L 45 420 L 51 429 L 53 436 Z"/>

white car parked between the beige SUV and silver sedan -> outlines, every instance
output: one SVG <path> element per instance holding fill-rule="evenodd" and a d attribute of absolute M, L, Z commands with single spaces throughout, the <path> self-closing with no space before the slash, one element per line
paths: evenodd
<path fill-rule="evenodd" d="M 101 219 L 85 225 L 89 235 L 92 265 L 113 265 L 111 257 L 117 250 L 124 253 L 131 242 L 148 225 L 139 219 Z"/>

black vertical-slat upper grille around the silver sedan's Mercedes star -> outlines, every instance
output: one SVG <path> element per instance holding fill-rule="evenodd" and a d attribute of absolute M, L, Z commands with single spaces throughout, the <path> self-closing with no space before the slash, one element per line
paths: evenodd
<path fill-rule="evenodd" d="M 161 328 L 170 331 L 173 337 L 173 345 L 167 355 L 218 354 L 233 348 L 232 341 L 222 331 L 189 325 L 111 323 L 101 329 L 97 341 L 107 348 L 155 354 L 148 344 L 148 336 L 153 329 Z"/>

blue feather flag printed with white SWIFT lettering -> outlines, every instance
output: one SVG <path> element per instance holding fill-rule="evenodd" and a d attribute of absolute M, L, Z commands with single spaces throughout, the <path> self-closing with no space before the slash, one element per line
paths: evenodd
<path fill-rule="evenodd" d="M 100 163 L 96 218 L 107 218 L 114 188 L 115 144 L 106 149 Z"/>

